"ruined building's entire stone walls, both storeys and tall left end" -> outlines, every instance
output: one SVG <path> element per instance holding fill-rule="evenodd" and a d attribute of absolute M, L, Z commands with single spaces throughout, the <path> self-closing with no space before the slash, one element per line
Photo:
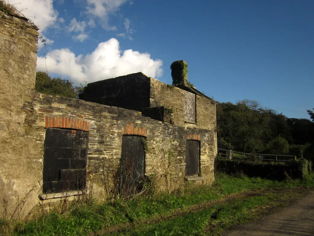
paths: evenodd
<path fill-rule="evenodd" d="M 171 90 L 169 86 L 142 73 L 137 73 L 138 83 L 132 85 L 133 91 L 131 89 L 126 93 L 128 97 L 125 97 L 134 98 L 133 103 L 129 103 L 133 110 L 37 93 L 34 91 L 36 30 L 25 19 L 0 11 L 1 215 L 5 212 L 14 217 L 36 215 L 39 206 L 49 210 L 54 202 L 60 202 L 60 196 L 73 199 L 73 195 L 84 194 L 80 191 L 61 195 L 43 194 L 47 128 L 88 132 L 86 189 L 93 189 L 97 199 L 102 199 L 115 188 L 113 180 L 121 158 L 122 136 L 126 134 L 145 137 L 145 175 L 153 176 L 160 190 L 174 190 L 185 181 L 187 139 L 200 140 L 200 179 L 205 184 L 213 183 L 215 110 L 207 98 L 197 97 L 199 122 L 186 124 L 184 115 L 181 117 L 184 109 L 181 106 L 184 104 L 183 90 L 176 87 Z M 130 88 L 127 86 L 131 84 L 128 77 L 123 78 L 124 88 Z M 153 91 L 152 83 L 158 89 Z M 112 83 L 112 86 L 116 85 Z M 149 100 L 149 93 L 154 93 L 154 101 Z M 101 96 L 96 95 L 96 98 Z M 111 101 L 108 98 L 106 103 Z M 145 117 L 137 111 L 149 106 L 165 106 L 163 121 Z"/>

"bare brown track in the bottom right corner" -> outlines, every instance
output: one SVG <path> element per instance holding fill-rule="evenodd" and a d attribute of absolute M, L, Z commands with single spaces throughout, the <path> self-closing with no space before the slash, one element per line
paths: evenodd
<path fill-rule="evenodd" d="M 223 235 L 314 235 L 314 191 L 274 214 L 226 231 Z"/>

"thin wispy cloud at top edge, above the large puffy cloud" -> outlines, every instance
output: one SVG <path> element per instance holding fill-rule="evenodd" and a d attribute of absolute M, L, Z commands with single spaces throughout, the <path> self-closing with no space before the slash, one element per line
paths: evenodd
<path fill-rule="evenodd" d="M 116 26 L 109 25 L 109 15 L 116 13 L 127 0 L 87 0 L 87 13 L 98 17 L 105 30 L 116 31 Z"/>

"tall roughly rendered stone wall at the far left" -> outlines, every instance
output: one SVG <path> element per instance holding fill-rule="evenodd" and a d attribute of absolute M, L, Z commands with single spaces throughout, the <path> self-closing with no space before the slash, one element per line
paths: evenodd
<path fill-rule="evenodd" d="M 37 37 L 36 26 L 0 10 L 0 215 L 5 209 L 16 209 L 17 215 L 18 202 L 37 197 L 41 188 L 42 165 L 34 159 L 41 154 L 40 141 L 29 130 L 24 109 L 35 88 Z"/>

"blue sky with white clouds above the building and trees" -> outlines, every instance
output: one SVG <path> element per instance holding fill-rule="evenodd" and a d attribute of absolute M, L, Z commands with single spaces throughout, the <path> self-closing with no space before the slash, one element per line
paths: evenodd
<path fill-rule="evenodd" d="M 142 71 L 171 84 L 170 65 L 183 59 L 189 81 L 219 102 L 253 99 L 291 118 L 314 107 L 313 0 L 23 4 L 37 6 L 24 14 L 47 42 L 37 70 L 51 75 L 79 83 Z"/>

